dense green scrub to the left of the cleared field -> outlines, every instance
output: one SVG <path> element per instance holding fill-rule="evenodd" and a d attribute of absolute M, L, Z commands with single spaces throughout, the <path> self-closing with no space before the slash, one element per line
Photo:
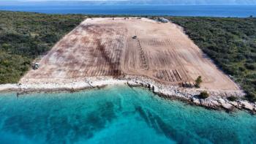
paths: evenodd
<path fill-rule="evenodd" d="M 17 83 L 37 56 L 78 26 L 84 15 L 0 11 L 0 84 Z"/>

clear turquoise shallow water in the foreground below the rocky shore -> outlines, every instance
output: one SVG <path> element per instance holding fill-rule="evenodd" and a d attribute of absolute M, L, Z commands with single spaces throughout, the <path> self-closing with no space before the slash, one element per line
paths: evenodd
<path fill-rule="evenodd" d="M 142 88 L 0 94 L 0 143 L 256 143 L 256 116 L 169 101 Z"/>

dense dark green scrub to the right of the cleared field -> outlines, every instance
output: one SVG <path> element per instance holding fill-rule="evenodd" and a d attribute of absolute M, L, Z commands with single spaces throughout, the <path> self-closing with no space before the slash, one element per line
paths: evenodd
<path fill-rule="evenodd" d="M 256 101 L 256 18 L 168 18 Z"/>

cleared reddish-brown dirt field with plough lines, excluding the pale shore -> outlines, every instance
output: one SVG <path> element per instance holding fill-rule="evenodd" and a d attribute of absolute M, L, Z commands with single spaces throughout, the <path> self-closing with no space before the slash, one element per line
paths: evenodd
<path fill-rule="evenodd" d="M 21 83 L 141 75 L 165 84 L 193 86 L 200 75 L 204 88 L 238 89 L 179 26 L 146 18 L 87 19 L 39 63 L 41 67 L 29 71 Z"/>

